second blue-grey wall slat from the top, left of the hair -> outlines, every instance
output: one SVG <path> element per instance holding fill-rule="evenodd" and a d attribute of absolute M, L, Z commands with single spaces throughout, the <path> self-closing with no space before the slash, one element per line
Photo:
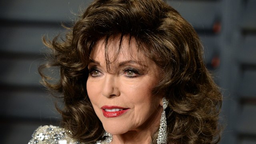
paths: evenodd
<path fill-rule="evenodd" d="M 33 24 L 16 26 L 13 23 L 15 22 L 0 27 L 0 52 L 40 54 L 46 50 L 42 44 L 42 36 L 52 38 L 63 30 L 58 24 L 54 27 L 47 24 L 42 27 Z"/>

